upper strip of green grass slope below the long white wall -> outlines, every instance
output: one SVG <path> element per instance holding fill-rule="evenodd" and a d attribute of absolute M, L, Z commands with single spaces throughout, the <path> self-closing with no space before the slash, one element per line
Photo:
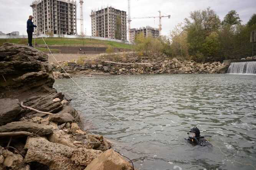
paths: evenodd
<path fill-rule="evenodd" d="M 113 41 L 104 41 L 104 40 L 97 40 L 97 39 L 79 39 L 79 38 L 44 38 L 46 43 L 49 46 L 102 46 L 102 47 L 109 47 L 112 46 L 113 48 L 125 48 L 129 49 L 132 46 L 124 43 L 117 43 Z M 3 43 L 14 43 L 14 44 L 26 44 L 27 39 L 0 39 L 0 44 Z M 35 39 L 33 39 L 33 44 Z M 44 45 L 43 39 L 36 38 L 36 44 Z"/>

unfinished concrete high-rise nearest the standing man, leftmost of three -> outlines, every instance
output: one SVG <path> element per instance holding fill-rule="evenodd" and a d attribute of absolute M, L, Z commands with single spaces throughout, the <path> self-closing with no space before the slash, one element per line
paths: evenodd
<path fill-rule="evenodd" d="M 33 22 L 41 34 L 77 34 L 76 1 L 34 0 L 30 7 L 35 17 Z"/>

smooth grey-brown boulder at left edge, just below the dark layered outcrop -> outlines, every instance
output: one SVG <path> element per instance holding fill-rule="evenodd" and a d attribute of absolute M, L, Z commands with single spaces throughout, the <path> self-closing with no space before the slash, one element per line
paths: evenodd
<path fill-rule="evenodd" d="M 21 111 L 18 99 L 0 99 L 0 126 L 15 121 Z"/>

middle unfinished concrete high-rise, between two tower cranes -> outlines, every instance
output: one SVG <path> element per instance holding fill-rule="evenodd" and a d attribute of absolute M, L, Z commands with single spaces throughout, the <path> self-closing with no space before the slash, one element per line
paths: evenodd
<path fill-rule="evenodd" d="M 91 11 L 92 36 L 127 40 L 126 11 L 113 7 Z"/>

